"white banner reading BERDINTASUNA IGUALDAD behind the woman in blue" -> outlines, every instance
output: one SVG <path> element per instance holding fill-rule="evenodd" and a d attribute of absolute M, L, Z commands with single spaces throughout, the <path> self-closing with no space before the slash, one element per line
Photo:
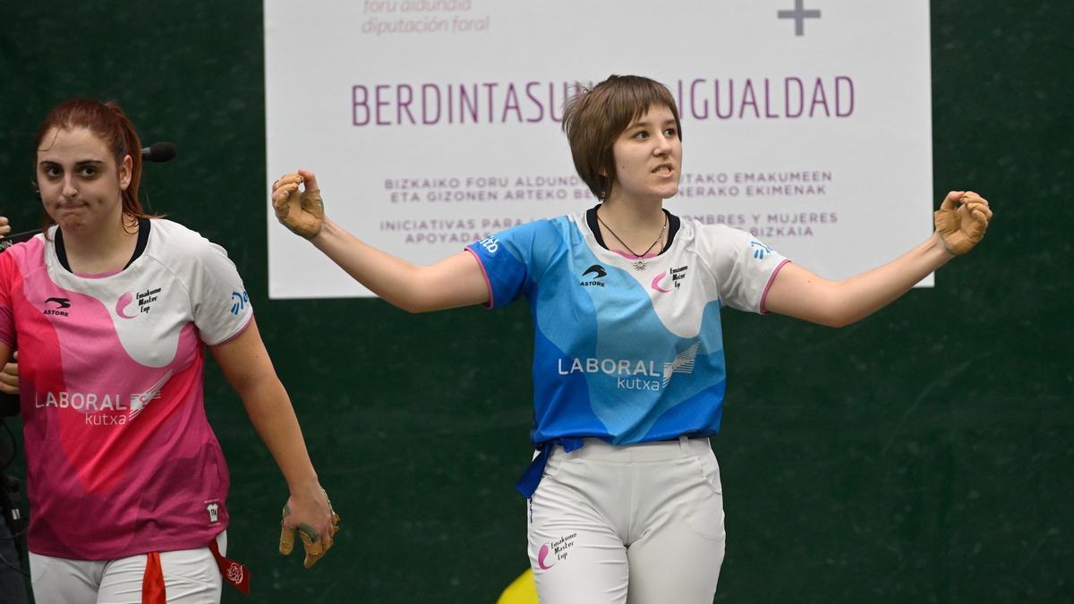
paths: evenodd
<path fill-rule="evenodd" d="M 830 278 L 932 230 L 924 0 L 267 0 L 264 15 L 270 182 L 313 170 L 329 216 L 416 263 L 595 205 L 560 120 L 575 83 L 613 73 L 679 102 L 674 214 Z M 272 212 L 268 262 L 271 298 L 369 296 Z"/>

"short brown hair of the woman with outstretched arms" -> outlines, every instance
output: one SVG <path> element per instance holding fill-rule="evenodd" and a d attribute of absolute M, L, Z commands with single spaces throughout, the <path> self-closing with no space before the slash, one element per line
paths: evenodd
<path fill-rule="evenodd" d="M 578 94 L 563 107 L 563 131 L 570 143 L 575 170 L 597 199 L 604 200 L 615 182 L 615 139 L 652 105 L 671 110 L 681 141 L 674 97 L 666 86 L 649 77 L 609 75 L 593 88 L 579 85 Z"/>

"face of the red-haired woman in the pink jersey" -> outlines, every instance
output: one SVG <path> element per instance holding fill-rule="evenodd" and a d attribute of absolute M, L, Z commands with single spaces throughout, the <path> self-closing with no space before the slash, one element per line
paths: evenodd
<path fill-rule="evenodd" d="M 38 149 L 38 187 L 45 212 L 64 231 L 119 224 L 131 158 L 116 162 L 88 128 L 53 128 Z"/>

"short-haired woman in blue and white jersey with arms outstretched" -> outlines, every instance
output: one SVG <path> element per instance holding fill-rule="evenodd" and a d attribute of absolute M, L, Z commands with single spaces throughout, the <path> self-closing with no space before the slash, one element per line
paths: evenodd
<path fill-rule="evenodd" d="M 750 233 L 664 210 L 682 141 L 671 94 L 611 76 L 572 98 L 563 128 L 599 203 L 474 243 L 429 267 L 377 250 L 324 216 L 317 179 L 273 185 L 276 216 L 392 304 L 425 312 L 528 302 L 537 449 L 519 483 L 545 603 L 710 603 L 724 557 L 720 430 L 724 306 L 840 327 L 902 296 L 984 236 L 988 202 L 952 191 L 937 231 L 842 282 Z"/>

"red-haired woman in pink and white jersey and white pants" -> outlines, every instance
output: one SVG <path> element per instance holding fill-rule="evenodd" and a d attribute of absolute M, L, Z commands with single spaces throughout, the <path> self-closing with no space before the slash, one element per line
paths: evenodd
<path fill-rule="evenodd" d="M 290 399 L 223 248 L 137 199 L 141 143 L 114 103 L 75 99 L 38 131 L 45 232 L 0 255 L 0 365 L 17 347 L 39 604 L 219 602 L 229 486 L 205 417 L 206 346 L 290 489 L 306 566 L 335 523 Z"/>

